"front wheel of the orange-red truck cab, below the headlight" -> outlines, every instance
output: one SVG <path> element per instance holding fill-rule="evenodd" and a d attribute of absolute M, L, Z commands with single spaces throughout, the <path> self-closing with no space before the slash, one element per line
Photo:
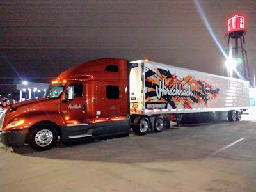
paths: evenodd
<path fill-rule="evenodd" d="M 29 136 L 29 146 L 37 151 L 51 149 L 57 142 L 58 134 L 54 126 L 35 127 Z"/>

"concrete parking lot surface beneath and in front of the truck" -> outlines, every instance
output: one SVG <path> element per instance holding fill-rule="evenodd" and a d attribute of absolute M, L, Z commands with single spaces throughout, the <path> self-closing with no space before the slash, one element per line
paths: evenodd
<path fill-rule="evenodd" d="M 0 144 L 0 191 L 255 191 L 256 118 L 35 152 Z"/>

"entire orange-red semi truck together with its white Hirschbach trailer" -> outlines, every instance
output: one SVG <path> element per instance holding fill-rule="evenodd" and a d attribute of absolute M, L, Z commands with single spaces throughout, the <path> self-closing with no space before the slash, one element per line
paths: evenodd
<path fill-rule="evenodd" d="M 241 120 L 249 83 L 147 60 L 102 58 L 68 68 L 44 97 L 1 108 L 1 142 L 63 143 L 162 132 L 182 123 Z"/>

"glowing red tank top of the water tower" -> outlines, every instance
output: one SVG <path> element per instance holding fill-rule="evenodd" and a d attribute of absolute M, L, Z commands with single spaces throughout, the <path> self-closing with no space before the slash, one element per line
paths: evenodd
<path fill-rule="evenodd" d="M 235 31 L 245 31 L 244 16 L 235 15 L 228 19 L 228 33 Z"/>

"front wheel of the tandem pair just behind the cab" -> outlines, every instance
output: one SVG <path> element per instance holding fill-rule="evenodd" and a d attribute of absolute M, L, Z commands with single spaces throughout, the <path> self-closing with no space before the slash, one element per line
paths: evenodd
<path fill-rule="evenodd" d="M 138 122 L 136 121 L 138 120 Z M 138 135 L 145 135 L 150 129 L 150 123 L 147 117 L 143 116 L 134 120 L 133 131 Z"/>

